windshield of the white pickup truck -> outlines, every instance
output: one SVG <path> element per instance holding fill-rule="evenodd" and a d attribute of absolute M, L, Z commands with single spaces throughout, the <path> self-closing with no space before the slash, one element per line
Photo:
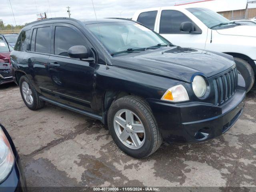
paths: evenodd
<path fill-rule="evenodd" d="M 230 23 L 230 20 L 206 8 L 187 8 L 187 10 L 200 19 L 208 28 L 222 23 Z"/>

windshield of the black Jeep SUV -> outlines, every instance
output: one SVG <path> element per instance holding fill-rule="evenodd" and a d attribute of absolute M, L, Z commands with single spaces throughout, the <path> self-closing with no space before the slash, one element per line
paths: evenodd
<path fill-rule="evenodd" d="M 170 43 L 152 30 L 135 22 L 111 22 L 86 26 L 110 54 L 131 48 L 147 48 Z"/>

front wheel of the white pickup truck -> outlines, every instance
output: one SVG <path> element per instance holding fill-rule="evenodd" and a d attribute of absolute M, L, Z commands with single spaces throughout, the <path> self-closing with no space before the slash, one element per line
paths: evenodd
<path fill-rule="evenodd" d="M 243 76 L 245 81 L 245 90 L 246 93 L 249 92 L 254 84 L 254 78 L 255 74 L 248 62 L 241 58 L 234 57 L 234 60 L 236 62 L 236 68 L 240 72 L 240 74 Z"/>

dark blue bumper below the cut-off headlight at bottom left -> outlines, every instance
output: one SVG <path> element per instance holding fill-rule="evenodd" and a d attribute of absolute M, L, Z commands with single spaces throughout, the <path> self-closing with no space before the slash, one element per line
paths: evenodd
<path fill-rule="evenodd" d="M 26 180 L 23 175 L 19 160 L 15 161 L 9 176 L 0 183 L 0 192 L 27 192 Z"/>

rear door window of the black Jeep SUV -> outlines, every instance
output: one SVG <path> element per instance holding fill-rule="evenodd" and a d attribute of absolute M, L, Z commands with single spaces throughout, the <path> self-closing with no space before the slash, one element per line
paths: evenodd
<path fill-rule="evenodd" d="M 50 53 L 50 27 L 37 28 L 35 52 Z"/>

